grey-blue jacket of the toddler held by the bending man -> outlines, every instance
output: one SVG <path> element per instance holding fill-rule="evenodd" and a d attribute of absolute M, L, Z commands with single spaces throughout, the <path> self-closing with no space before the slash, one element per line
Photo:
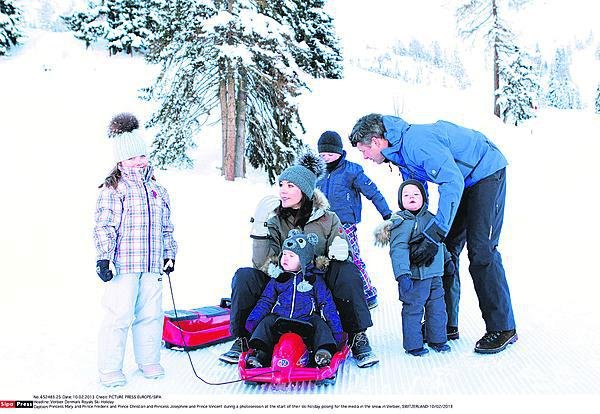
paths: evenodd
<path fill-rule="evenodd" d="M 446 259 L 446 248 L 442 244 L 429 266 L 415 266 L 410 263 L 409 243 L 419 236 L 434 215 L 425 206 L 416 216 L 408 210 L 394 213 L 390 226 L 390 257 L 394 277 L 408 275 L 413 279 L 428 279 L 444 274 L 444 262 Z"/>

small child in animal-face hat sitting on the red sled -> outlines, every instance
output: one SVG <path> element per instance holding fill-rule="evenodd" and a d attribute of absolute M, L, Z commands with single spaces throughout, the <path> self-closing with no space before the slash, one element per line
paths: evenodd
<path fill-rule="evenodd" d="M 290 230 L 281 247 L 281 268 L 269 267 L 273 277 L 258 303 L 250 312 L 246 329 L 252 333 L 250 347 L 255 353 L 248 358 L 250 367 L 269 366 L 273 347 L 279 340 L 274 325 L 278 317 L 309 322 L 314 328 L 312 343 L 315 363 L 329 365 L 342 338 L 342 324 L 331 292 L 313 263 L 318 237 L 297 229 Z M 282 270 L 283 269 L 283 270 Z M 320 274 L 319 274 L 320 273 Z"/>

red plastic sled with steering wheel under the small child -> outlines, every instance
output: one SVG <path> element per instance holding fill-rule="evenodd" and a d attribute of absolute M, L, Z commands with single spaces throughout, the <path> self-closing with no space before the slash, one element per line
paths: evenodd
<path fill-rule="evenodd" d="M 331 363 L 319 368 L 311 364 L 311 353 L 303 341 L 303 337 L 310 335 L 312 330 L 310 324 L 294 319 L 278 318 L 275 329 L 281 337 L 273 348 L 270 367 L 246 368 L 246 359 L 252 354 L 252 349 L 243 352 L 240 356 L 238 369 L 240 378 L 245 380 L 246 384 L 265 382 L 287 384 L 301 381 L 314 381 L 316 385 L 335 383 L 337 370 L 350 352 L 347 338 L 344 338 L 341 349 L 331 358 Z"/>

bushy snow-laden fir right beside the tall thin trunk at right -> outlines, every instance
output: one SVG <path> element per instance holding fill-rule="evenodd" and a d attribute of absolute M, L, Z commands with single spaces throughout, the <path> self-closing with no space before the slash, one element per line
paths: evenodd
<path fill-rule="evenodd" d="M 534 118 L 540 84 L 530 56 L 516 46 L 501 50 L 499 78 L 496 94 L 502 120 L 518 125 Z"/>

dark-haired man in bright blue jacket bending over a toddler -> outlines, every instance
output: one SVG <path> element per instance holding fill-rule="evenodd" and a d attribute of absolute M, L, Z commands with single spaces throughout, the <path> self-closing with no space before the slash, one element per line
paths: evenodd
<path fill-rule="evenodd" d="M 411 263 L 427 265 L 444 242 L 455 263 L 445 277 L 449 338 L 458 338 L 458 258 L 467 245 L 469 273 L 486 333 L 475 352 L 504 350 L 517 340 L 508 283 L 497 250 L 504 218 L 506 158 L 482 133 L 438 121 L 412 125 L 395 116 L 360 118 L 350 134 L 365 159 L 400 168 L 402 178 L 438 185 L 435 219 L 411 248 Z"/>

